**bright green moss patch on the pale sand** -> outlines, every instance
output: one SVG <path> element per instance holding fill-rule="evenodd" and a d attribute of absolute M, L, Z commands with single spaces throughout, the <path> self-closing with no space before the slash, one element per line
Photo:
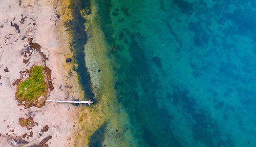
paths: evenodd
<path fill-rule="evenodd" d="M 19 104 L 25 101 L 25 108 L 37 105 L 38 98 L 47 90 L 43 66 L 34 66 L 29 77 L 17 86 L 16 99 Z"/>

